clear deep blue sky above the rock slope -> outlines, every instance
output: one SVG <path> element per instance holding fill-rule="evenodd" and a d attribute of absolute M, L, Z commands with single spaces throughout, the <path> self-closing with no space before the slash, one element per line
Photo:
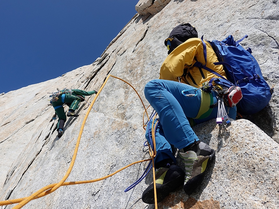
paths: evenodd
<path fill-rule="evenodd" d="M 139 0 L 1 0 L 0 94 L 100 57 Z"/>

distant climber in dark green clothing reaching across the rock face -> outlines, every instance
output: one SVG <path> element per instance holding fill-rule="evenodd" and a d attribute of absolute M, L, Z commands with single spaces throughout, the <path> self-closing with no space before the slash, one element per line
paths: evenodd
<path fill-rule="evenodd" d="M 84 101 L 84 96 L 90 96 L 97 94 L 97 91 L 83 91 L 80 89 L 63 89 L 57 93 L 51 95 L 51 104 L 55 109 L 55 113 L 58 116 L 57 132 L 58 138 L 63 135 L 64 123 L 66 122 L 66 114 L 63 105 L 66 104 L 69 107 L 67 113 L 68 117 L 78 117 L 75 111 L 78 109 L 79 102 Z"/>

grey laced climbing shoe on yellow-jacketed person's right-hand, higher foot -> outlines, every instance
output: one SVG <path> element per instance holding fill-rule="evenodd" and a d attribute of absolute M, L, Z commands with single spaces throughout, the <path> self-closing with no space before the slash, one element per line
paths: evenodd
<path fill-rule="evenodd" d="M 197 142 L 185 153 L 179 153 L 185 163 L 184 191 L 192 194 L 201 184 L 208 163 L 215 156 L 215 150 L 203 142 Z"/>

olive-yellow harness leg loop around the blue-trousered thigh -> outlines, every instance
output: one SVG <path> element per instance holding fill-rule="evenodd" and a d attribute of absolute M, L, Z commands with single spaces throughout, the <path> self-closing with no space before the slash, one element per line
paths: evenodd
<path fill-rule="evenodd" d="M 213 104 L 212 94 L 201 90 L 201 107 L 194 119 L 203 119 L 208 117 L 212 112 L 212 108 L 210 108 L 211 104 Z"/>

